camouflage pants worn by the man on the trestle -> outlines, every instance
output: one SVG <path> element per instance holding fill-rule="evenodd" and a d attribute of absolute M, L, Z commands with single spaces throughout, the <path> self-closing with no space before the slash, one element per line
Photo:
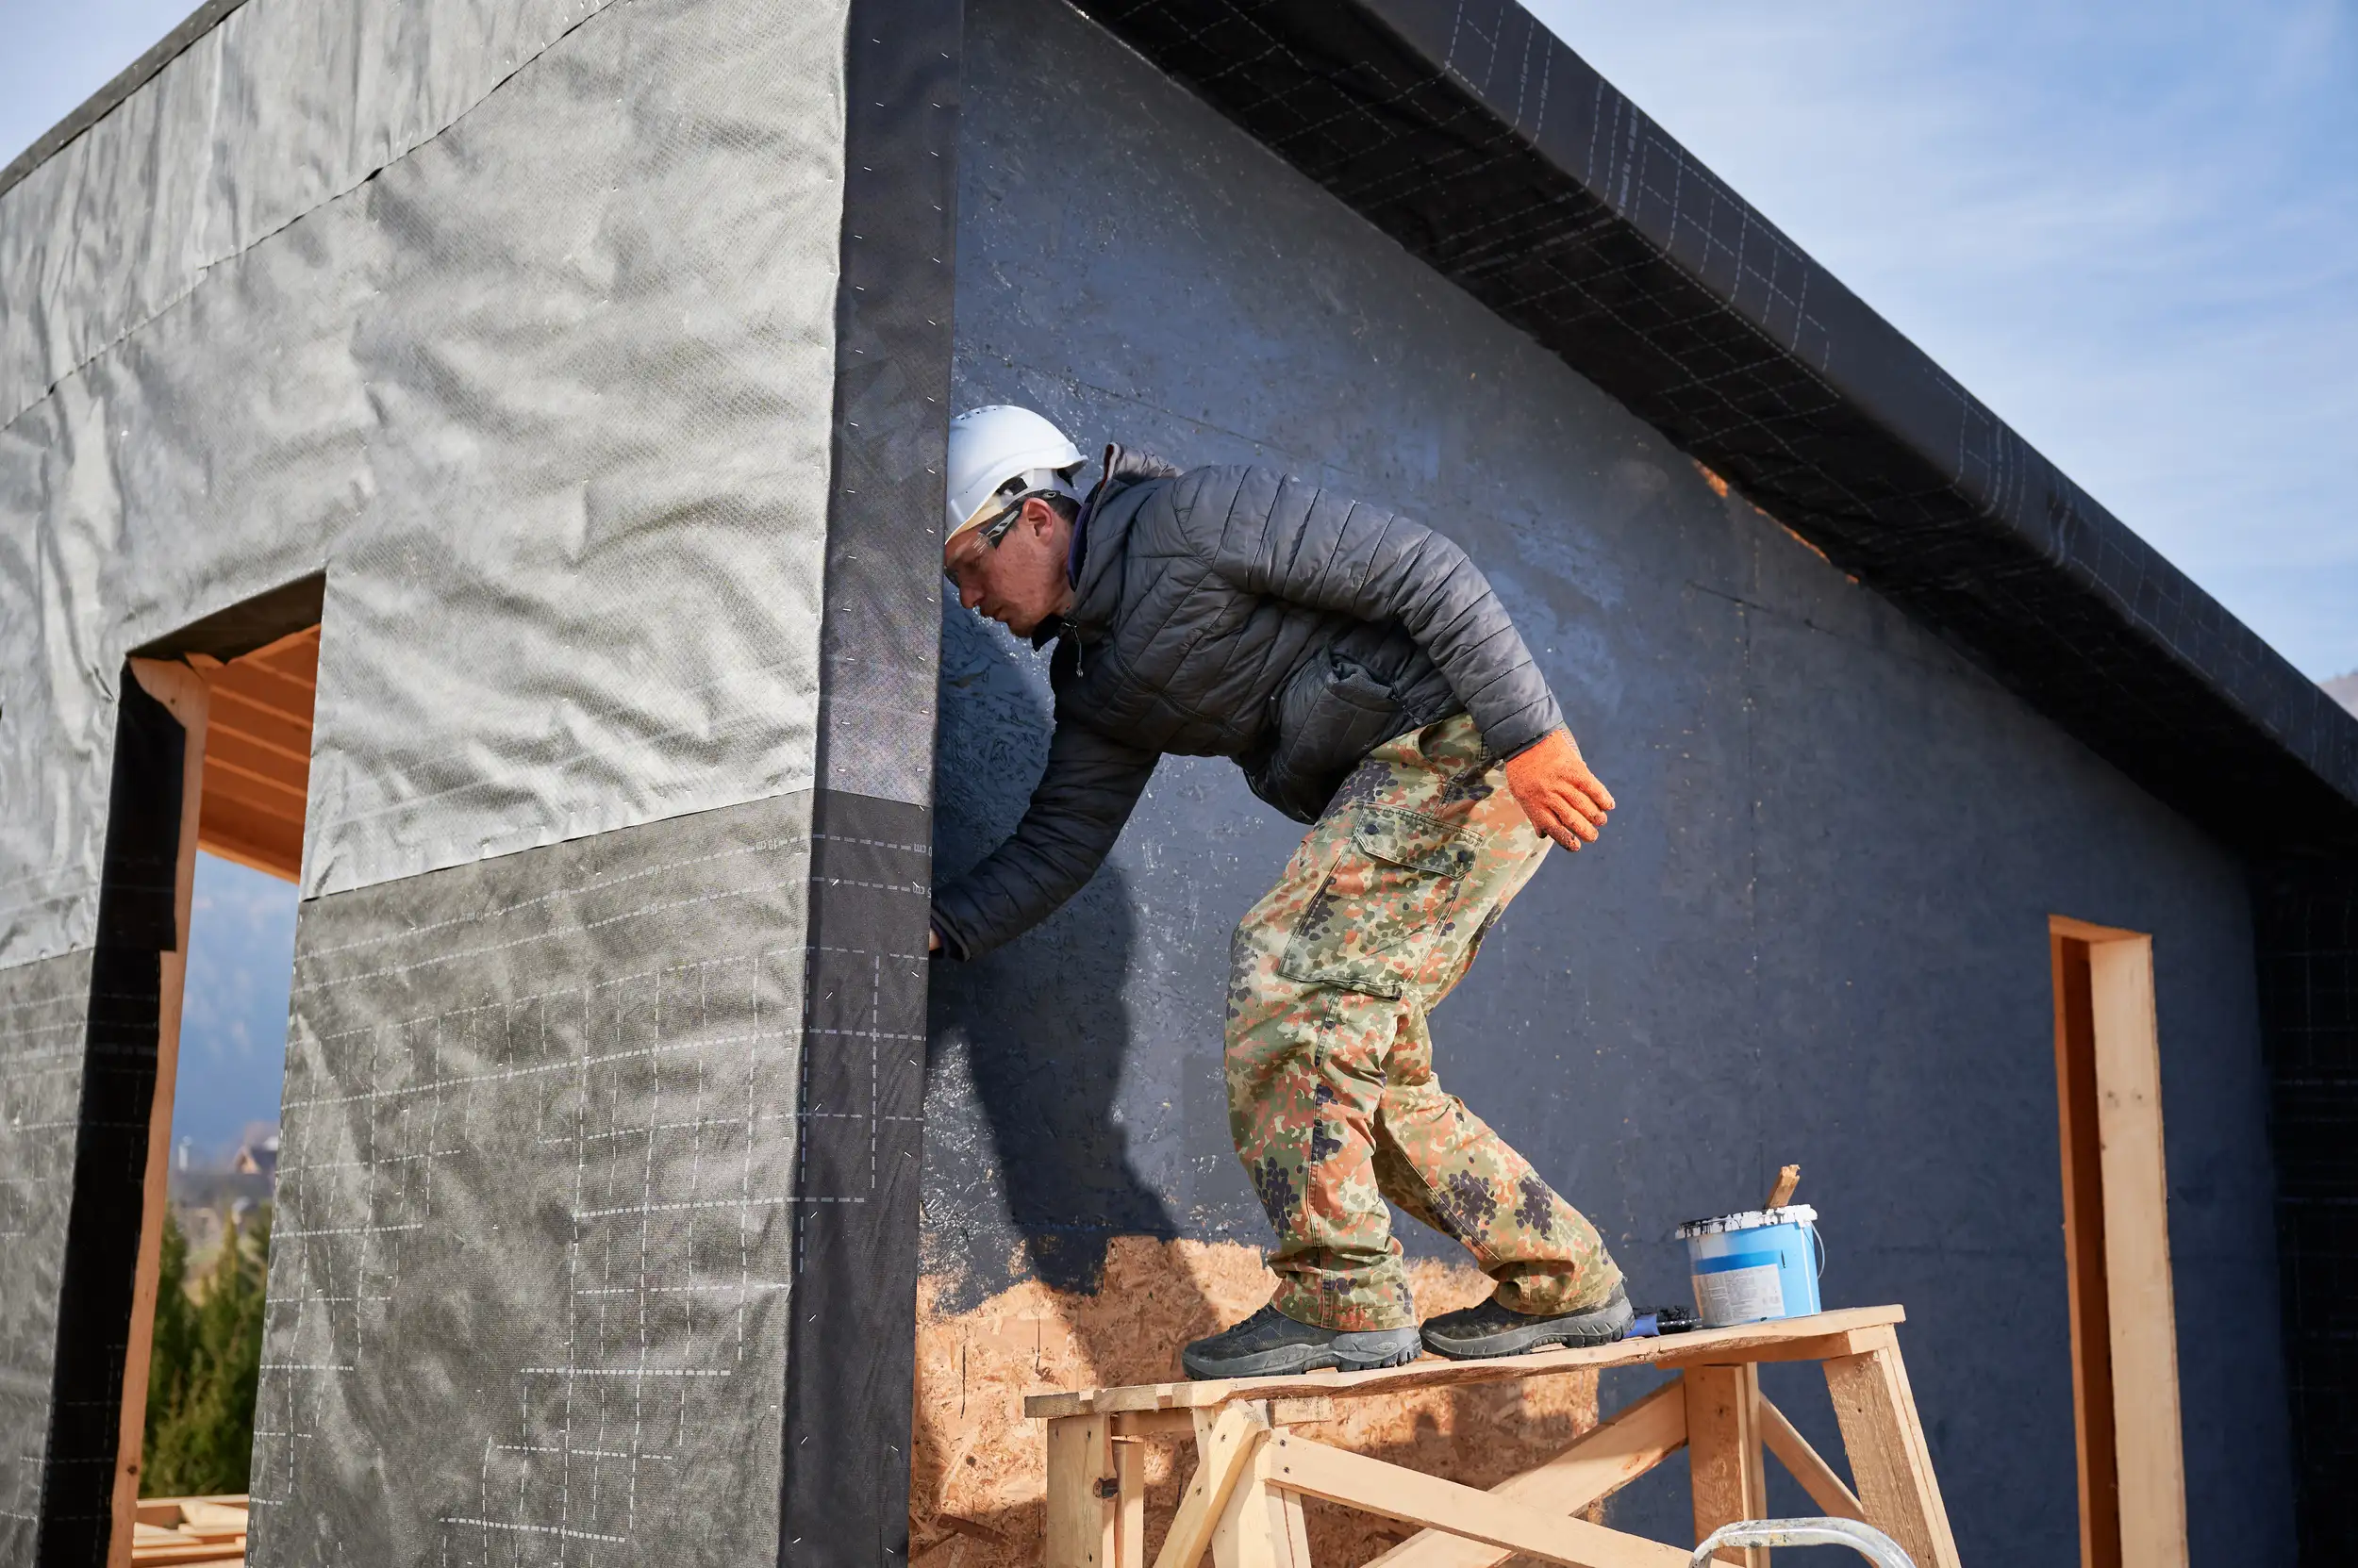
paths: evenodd
<path fill-rule="evenodd" d="M 1405 1327 L 1391 1212 L 1462 1240 L 1502 1306 L 1620 1283 L 1596 1228 L 1434 1080 L 1424 1014 L 1547 856 L 1474 722 L 1379 747 L 1229 948 L 1229 1129 L 1278 1228 L 1278 1311 Z"/>

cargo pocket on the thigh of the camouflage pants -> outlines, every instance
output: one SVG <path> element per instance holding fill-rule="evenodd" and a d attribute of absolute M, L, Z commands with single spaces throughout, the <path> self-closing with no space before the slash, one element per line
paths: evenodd
<path fill-rule="evenodd" d="M 1318 896 L 1302 910 L 1278 974 L 1396 997 L 1455 934 L 1457 887 L 1478 830 L 1396 806 L 1363 806 Z"/>

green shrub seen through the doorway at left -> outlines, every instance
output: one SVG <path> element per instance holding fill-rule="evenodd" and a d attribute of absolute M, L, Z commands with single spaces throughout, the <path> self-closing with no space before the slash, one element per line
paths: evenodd
<path fill-rule="evenodd" d="M 203 1497 L 248 1485 L 269 1233 L 269 1205 L 245 1226 L 231 1224 L 203 1287 L 191 1290 L 189 1238 L 165 1217 L 139 1467 L 146 1497 Z"/>

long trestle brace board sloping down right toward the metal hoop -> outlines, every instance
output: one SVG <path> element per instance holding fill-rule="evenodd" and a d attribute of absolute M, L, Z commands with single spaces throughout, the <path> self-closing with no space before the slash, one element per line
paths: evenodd
<path fill-rule="evenodd" d="M 1384 1464 L 1290 1431 L 1269 1438 L 1269 1481 L 1365 1514 L 1448 1530 L 1563 1568 L 1686 1568 L 1679 1547 L 1561 1518 L 1441 1476 Z"/>

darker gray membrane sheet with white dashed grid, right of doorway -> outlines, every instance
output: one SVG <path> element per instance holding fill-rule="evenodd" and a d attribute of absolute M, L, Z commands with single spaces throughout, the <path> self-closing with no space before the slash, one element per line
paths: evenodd
<path fill-rule="evenodd" d="M 257 1563 L 776 1549 L 809 806 L 307 910 Z"/>

